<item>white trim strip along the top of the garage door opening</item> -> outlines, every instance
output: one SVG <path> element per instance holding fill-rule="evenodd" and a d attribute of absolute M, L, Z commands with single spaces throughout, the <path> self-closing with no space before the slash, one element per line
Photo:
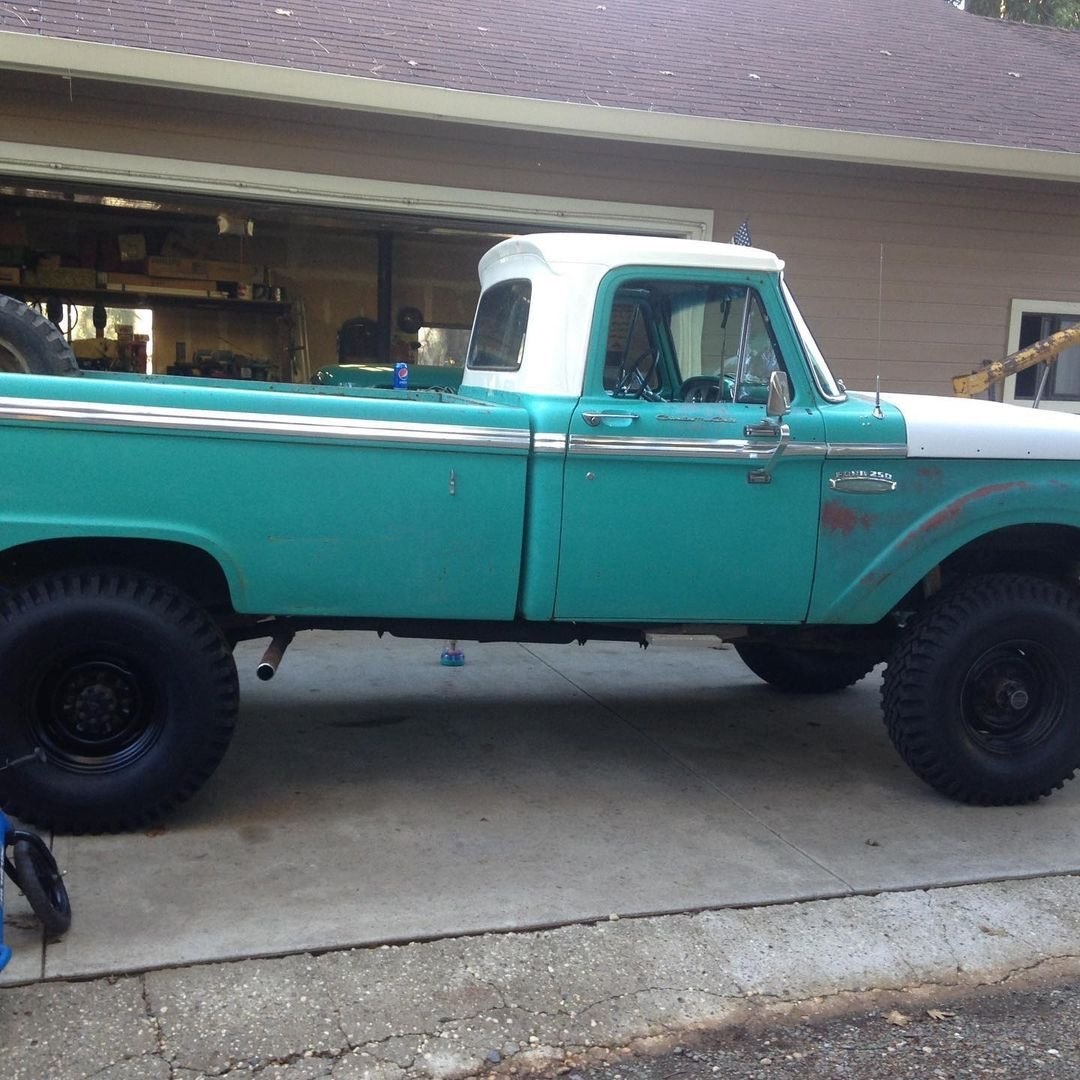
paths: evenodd
<path fill-rule="evenodd" d="M 688 240 L 711 240 L 713 235 L 713 212 L 701 207 L 403 184 L 30 143 L 0 140 L 0 174 L 49 179 L 52 183 L 59 179 L 117 185 L 144 191 L 270 199 L 307 206 L 386 210 L 471 220 L 481 218 L 525 228 L 566 226 Z"/>

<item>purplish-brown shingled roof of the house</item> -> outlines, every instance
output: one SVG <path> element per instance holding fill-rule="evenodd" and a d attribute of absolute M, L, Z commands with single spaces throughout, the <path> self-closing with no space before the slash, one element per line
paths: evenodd
<path fill-rule="evenodd" d="M 943 0 L 16 0 L 0 4 L 0 30 L 519 98 L 1080 152 L 1080 32 L 980 18 Z"/>

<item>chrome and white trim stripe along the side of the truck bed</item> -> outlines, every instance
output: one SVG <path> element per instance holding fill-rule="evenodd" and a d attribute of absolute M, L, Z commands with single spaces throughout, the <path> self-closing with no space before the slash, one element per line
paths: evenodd
<path fill-rule="evenodd" d="M 524 428 L 480 428 L 467 424 L 413 423 L 350 417 L 298 416 L 275 413 L 229 413 L 98 402 L 0 397 L 0 420 L 26 420 L 172 431 L 225 432 L 238 435 L 359 440 L 433 446 L 527 450 Z"/>

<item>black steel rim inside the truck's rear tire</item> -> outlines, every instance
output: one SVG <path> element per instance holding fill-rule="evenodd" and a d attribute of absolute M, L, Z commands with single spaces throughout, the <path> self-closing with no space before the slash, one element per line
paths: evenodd
<path fill-rule="evenodd" d="M 76 772 L 113 772 L 157 741 L 161 711 L 148 679 L 117 657 L 55 662 L 33 696 L 31 727 L 50 760 Z"/>

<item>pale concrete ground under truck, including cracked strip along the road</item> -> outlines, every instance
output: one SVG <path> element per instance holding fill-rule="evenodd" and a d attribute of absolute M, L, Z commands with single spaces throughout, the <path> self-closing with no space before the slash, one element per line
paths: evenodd
<path fill-rule="evenodd" d="M 238 649 L 206 789 L 55 838 L 62 941 L 9 894 L 0 1076 L 567 1075 L 1076 974 L 1080 786 L 942 799 L 877 675 L 797 698 L 708 638 L 441 645 L 302 635 L 269 684 Z"/>

